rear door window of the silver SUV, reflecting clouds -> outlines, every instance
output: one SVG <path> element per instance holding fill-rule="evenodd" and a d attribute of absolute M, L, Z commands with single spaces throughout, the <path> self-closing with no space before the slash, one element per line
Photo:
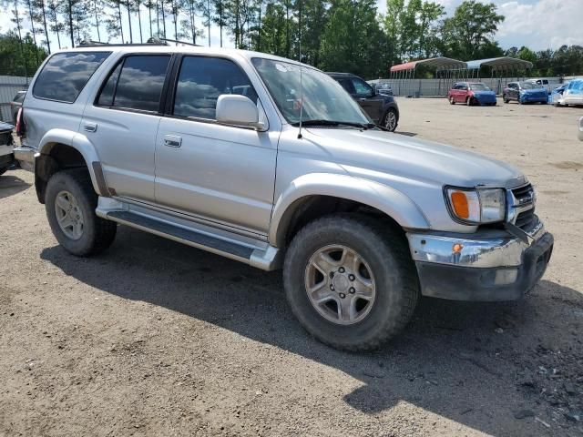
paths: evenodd
<path fill-rule="evenodd" d="M 158 112 L 169 61 L 168 55 L 128 56 L 111 106 Z"/>

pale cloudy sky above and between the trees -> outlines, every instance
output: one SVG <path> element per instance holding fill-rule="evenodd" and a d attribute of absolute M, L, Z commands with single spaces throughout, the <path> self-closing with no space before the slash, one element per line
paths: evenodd
<path fill-rule="evenodd" d="M 433 0 L 445 6 L 447 15 L 452 15 L 455 7 L 463 0 Z M 556 49 L 564 44 L 583 45 L 583 0 L 479 0 L 483 3 L 494 3 L 498 7 L 498 13 L 506 16 L 506 20 L 499 26 L 496 40 L 504 49 L 511 46 L 528 46 L 533 50 Z M 379 0 L 380 13 L 385 11 L 385 0 Z M 142 28 L 144 40 L 147 39 L 149 25 L 147 18 L 142 14 Z M 13 25 L 6 9 L 0 12 L 0 32 L 5 32 Z M 199 20 L 199 26 L 201 25 Z M 124 18 L 124 25 L 127 19 Z M 30 24 L 25 22 L 25 27 Z M 125 25 L 126 26 L 126 25 Z M 138 19 L 132 19 L 134 39 L 138 35 Z M 167 35 L 169 36 L 169 20 L 167 20 Z M 93 31 L 95 33 L 95 31 Z M 124 35 L 128 39 L 128 29 L 124 28 Z M 205 34 L 206 35 L 206 34 Z M 97 39 L 97 35 L 92 36 Z M 211 46 L 219 46 L 219 29 L 212 26 L 210 32 Z M 66 36 L 61 36 L 61 42 Z M 208 39 L 198 41 L 199 44 L 208 45 Z M 51 45 L 56 47 L 56 36 L 51 34 Z M 223 46 L 233 46 L 229 36 L 223 37 Z"/>

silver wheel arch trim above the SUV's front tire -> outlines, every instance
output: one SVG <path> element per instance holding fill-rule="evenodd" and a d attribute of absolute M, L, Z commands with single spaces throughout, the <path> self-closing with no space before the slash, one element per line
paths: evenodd
<path fill-rule="evenodd" d="M 303 222 L 354 208 L 379 214 L 400 229 L 429 228 L 413 200 L 394 188 L 363 178 L 314 173 L 294 179 L 281 192 L 271 214 L 268 239 L 273 246 L 285 247 Z"/>

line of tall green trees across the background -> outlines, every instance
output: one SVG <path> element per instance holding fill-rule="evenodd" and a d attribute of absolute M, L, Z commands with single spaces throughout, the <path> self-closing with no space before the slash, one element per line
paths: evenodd
<path fill-rule="evenodd" d="M 0 36 L 0 56 L 9 59 L 5 69 L 34 71 L 51 51 L 92 36 L 102 42 L 163 37 L 210 46 L 215 27 L 219 41 L 213 46 L 229 39 L 237 48 L 366 78 L 432 56 L 516 56 L 535 64 L 535 76 L 583 73 L 581 46 L 503 50 L 494 36 L 504 16 L 496 5 L 476 0 L 465 0 L 451 16 L 431 0 L 386 0 L 385 14 L 374 0 L 0 0 L 0 5 L 13 24 Z"/>

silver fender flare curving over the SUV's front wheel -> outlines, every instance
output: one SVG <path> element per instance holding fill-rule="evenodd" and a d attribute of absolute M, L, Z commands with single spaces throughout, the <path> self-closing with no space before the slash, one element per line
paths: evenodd
<path fill-rule="evenodd" d="M 306 198 L 331 196 L 345 198 L 376 208 L 404 229 L 429 229 L 429 220 L 404 193 L 363 178 L 329 173 L 311 173 L 293 179 L 275 202 L 268 239 L 282 247 L 293 213 Z"/>

